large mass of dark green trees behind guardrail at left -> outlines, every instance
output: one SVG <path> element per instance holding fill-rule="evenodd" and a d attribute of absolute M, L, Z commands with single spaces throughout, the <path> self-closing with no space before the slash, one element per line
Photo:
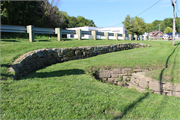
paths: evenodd
<path fill-rule="evenodd" d="M 59 0 L 43 1 L 2 1 L 1 24 L 7 25 L 34 25 L 36 27 L 82 27 L 96 26 L 93 20 L 83 16 L 69 16 L 59 11 L 56 6 Z"/>

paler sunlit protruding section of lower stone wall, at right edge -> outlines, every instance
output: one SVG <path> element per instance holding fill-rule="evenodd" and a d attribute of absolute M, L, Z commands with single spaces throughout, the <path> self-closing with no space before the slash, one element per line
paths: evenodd
<path fill-rule="evenodd" d="M 150 89 L 155 94 L 180 97 L 180 84 L 156 81 L 146 77 L 143 72 L 132 74 L 129 88 L 131 87 L 135 87 L 139 92 Z"/>

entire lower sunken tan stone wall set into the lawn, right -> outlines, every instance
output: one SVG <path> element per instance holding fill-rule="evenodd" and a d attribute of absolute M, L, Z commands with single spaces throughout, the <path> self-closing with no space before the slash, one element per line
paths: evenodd
<path fill-rule="evenodd" d="M 109 83 L 127 88 L 135 88 L 139 92 L 150 91 L 155 94 L 180 97 L 180 84 L 170 82 L 160 83 L 150 77 L 145 76 L 149 69 L 124 68 L 113 70 L 101 70 L 96 72 L 96 78 L 104 83 Z"/>

